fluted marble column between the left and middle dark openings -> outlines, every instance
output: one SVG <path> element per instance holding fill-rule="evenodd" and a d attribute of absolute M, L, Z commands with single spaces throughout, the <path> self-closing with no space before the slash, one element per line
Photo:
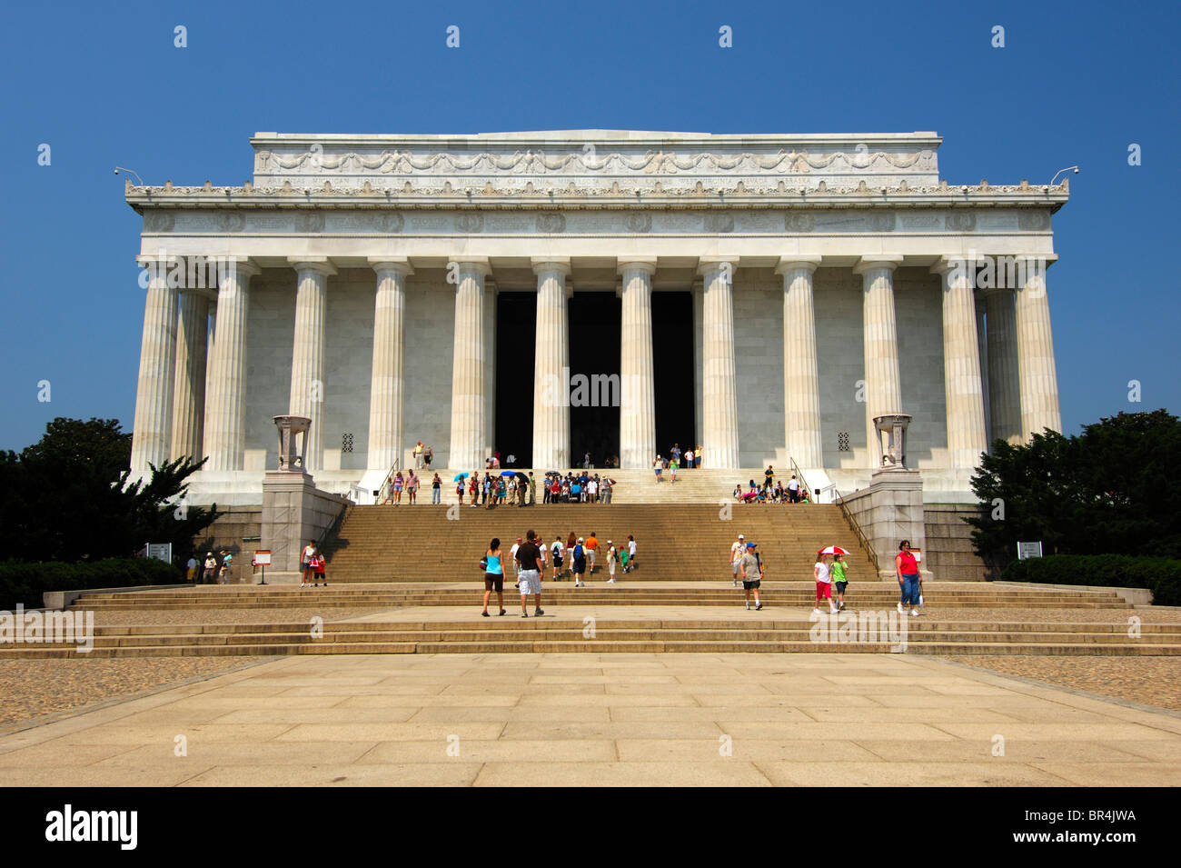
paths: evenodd
<path fill-rule="evenodd" d="M 569 260 L 533 261 L 537 275 L 537 340 L 533 363 L 533 466 L 570 466 L 570 402 L 566 279 Z"/>

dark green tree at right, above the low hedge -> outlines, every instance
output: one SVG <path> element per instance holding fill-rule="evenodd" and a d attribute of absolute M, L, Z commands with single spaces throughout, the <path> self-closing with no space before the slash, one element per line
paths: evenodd
<path fill-rule="evenodd" d="M 1075 437 L 1046 430 L 993 443 L 972 477 L 977 554 L 999 570 L 1018 541 L 1045 554 L 1181 556 L 1181 420 L 1118 413 Z"/>

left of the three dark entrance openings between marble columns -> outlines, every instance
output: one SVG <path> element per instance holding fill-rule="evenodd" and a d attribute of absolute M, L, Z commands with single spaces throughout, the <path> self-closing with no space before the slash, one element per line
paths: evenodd
<path fill-rule="evenodd" d="M 533 463 L 533 357 L 537 293 L 496 296 L 496 449 L 503 466 Z M 515 462 L 508 463 L 508 456 Z"/>

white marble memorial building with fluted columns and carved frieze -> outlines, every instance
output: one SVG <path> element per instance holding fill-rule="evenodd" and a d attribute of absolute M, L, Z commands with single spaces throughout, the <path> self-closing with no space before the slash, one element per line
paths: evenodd
<path fill-rule="evenodd" d="M 1061 429 L 1045 268 L 1069 191 L 948 184 L 940 142 L 263 132 L 241 187 L 129 182 L 148 291 L 133 470 L 209 456 L 195 500 L 259 503 L 288 412 L 313 420 L 326 490 L 407 466 L 417 439 L 436 466 L 482 468 L 498 389 L 536 396 L 517 464 L 567 466 L 570 407 L 543 393 L 578 293 L 619 296 L 619 358 L 586 373 L 620 376 L 616 451 L 648 466 L 668 445 L 652 299 L 677 292 L 707 468 L 790 458 L 852 490 L 880 463 L 873 417 L 903 412 L 928 500 L 965 500 L 992 438 Z M 496 299 L 522 292 L 534 374 L 505 383 L 497 344 L 521 339 Z"/>

